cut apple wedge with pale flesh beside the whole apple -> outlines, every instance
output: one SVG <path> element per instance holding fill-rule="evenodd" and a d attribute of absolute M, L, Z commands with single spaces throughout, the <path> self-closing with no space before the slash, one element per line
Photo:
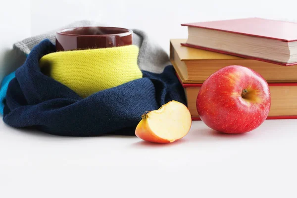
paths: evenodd
<path fill-rule="evenodd" d="M 153 143 L 172 143 L 185 137 L 192 125 L 191 113 L 183 103 L 172 100 L 148 111 L 136 127 L 135 135 Z"/>

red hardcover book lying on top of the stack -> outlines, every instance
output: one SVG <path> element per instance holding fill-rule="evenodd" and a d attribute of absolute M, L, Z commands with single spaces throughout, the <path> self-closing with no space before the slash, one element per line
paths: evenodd
<path fill-rule="evenodd" d="M 297 65 L 297 23 L 263 18 L 185 23 L 183 46 L 284 66 Z"/>

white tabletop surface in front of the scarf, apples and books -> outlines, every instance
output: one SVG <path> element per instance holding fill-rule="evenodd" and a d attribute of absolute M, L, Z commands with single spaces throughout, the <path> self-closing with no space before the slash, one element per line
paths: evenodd
<path fill-rule="evenodd" d="M 193 121 L 166 145 L 137 137 L 59 137 L 0 121 L 0 198 L 296 198 L 297 120 L 243 135 Z"/>

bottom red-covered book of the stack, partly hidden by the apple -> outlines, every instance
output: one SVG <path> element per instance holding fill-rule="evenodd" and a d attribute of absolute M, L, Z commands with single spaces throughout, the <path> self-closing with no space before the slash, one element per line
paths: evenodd
<path fill-rule="evenodd" d="M 192 120 L 200 120 L 196 100 L 202 84 L 183 84 Z M 297 83 L 268 83 L 271 107 L 267 119 L 297 119 Z"/>

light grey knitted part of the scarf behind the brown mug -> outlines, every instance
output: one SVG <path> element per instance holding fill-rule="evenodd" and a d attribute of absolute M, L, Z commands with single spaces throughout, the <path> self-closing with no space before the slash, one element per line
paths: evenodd
<path fill-rule="evenodd" d="M 48 39 L 53 45 L 55 44 L 55 32 L 60 29 L 69 28 L 69 27 L 83 27 L 83 26 L 108 26 L 106 24 L 102 24 L 96 21 L 82 20 L 76 21 L 74 23 L 67 24 L 63 27 L 56 28 L 49 32 L 36 35 L 33 37 L 26 38 L 22 41 L 18 41 L 13 45 L 13 55 L 11 57 L 12 65 L 7 65 L 9 69 L 7 72 L 4 72 L 0 75 L 0 80 L 5 75 L 14 72 L 17 68 L 19 68 L 22 64 L 24 64 L 27 55 L 31 52 L 31 50 L 38 45 L 41 41 Z M 138 66 L 143 71 L 149 71 L 153 73 L 162 73 L 164 68 L 170 65 L 170 60 L 168 54 L 162 49 L 157 43 L 151 40 L 148 37 L 148 34 L 139 29 L 133 30 L 133 45 L 139 47 L 138 54 Z M 9 82 L 6 82 L 7 84 Z M 3 90 L 2 90 L 3 89 Z M 6 88 L 1 88 L 0 92 L 2 92 L 2 101 L 5 101 L 6 97 Z M 0 106 L 1 108 L 1 106 Z M 2 108 L 1 108 L 2 109 Z M 0 109 L 0 110 L 1 110 Z"/>

